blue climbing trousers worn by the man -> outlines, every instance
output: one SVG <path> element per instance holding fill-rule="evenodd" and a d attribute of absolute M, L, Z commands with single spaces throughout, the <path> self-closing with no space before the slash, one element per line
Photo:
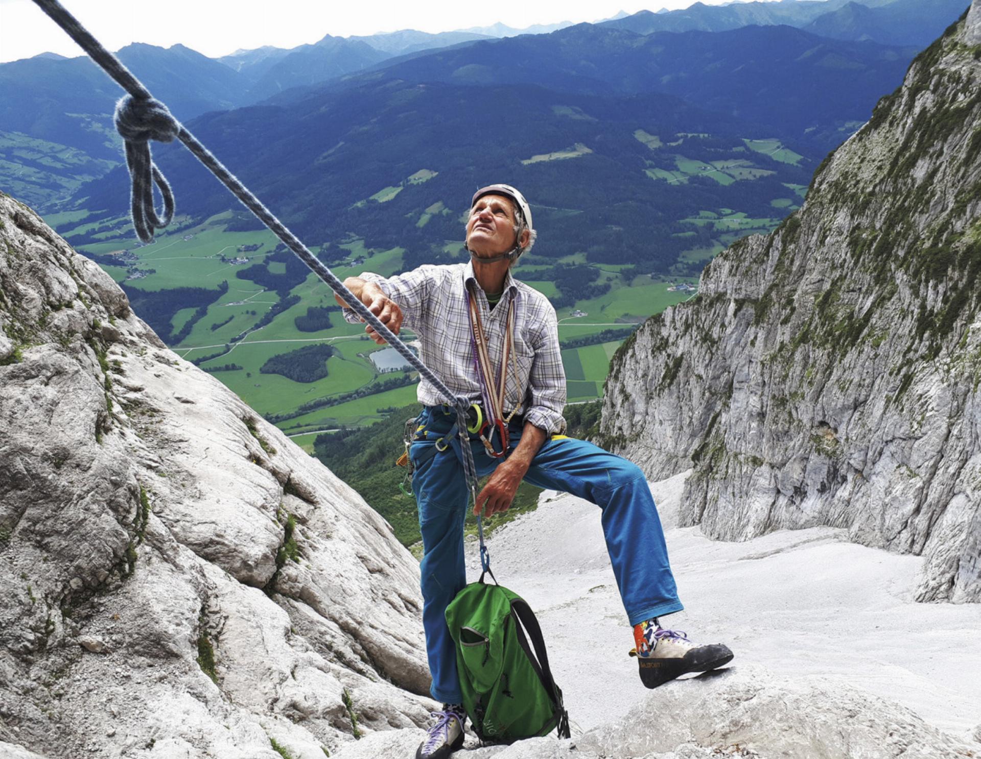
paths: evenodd
<path fill-rule="evenodd" d="M 433 675 L 431 692 L 436 700 L 449 704 L 463 701 L 444 613 L 467 583 L 463 522 L 469 493 L 456 431 L 445 450 L 437 451 L 435 446 L 455 421 L 452 409 L 425 407 L 409 450 L 423 536 L 423 627 Z M 523 423 L 512 423 L 512 447 L 521 439 L 522 429 Z M 490 458 L 474 435 L 471 447 L 478 475 L 490 475 L 499 461 Z M 637 465 L 585 440 L 555 436 L 542 445 L 525 480 L 585 498 L 602 510 L 606 548 L 631 625 L 681 611 L 664 531 L 644 473 Z"/>

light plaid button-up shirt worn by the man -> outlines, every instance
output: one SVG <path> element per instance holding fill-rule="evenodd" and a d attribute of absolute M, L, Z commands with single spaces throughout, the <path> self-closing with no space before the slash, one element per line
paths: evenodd
<path fill-rule="evenodd" d="M 536 289 L 511 277 L 504 278 L 500 301 L 490 310 L 487 295 L 474 277 L 473 263 L 433 266 L 427 264 L 395 277 L 379 277 L 364 272 L 361 278 L 375 282 L 402 310 L 403 326 L 419 335 L 423 363 L 457 395 L 481 403 L 481 384 L 474 365 L 470 314 L 464 294 L 465 282 L 476 286 L 477 307 L 488 337 L 488 353 L 496 380 L 500 372 L 504 345 L 504 326 L 508 304 L 515 302 L 514 354 L 518 360 L 518 383 L 514 385 L 511 359 L 508 359 L 505 414 L 523 403 L 526 422 L 550 434 L 565 430 L 565 370 L 558 345 L 555 309 Z M 360 318 L 344 309 L 344 319 L 358 324 Z M 436 406 L 448 401 L 427 379 L 417 392 L 419 402 Z"/>

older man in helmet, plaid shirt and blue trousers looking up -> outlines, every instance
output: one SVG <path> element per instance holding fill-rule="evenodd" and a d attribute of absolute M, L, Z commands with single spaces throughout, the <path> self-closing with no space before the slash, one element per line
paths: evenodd
<path fill-rule="evenodd" d="M 732 659 L 724 645 L 697 645 L 665 630 L 658 617 L 682 609 L 664 533 L 644 473 L 594 444 L 562 434 L 565 373 L 555 309 L 511 269 L 535 244 L 532 212 L 507 184 L 479 190 L 466 225 L 470 262 L 421 266 L 395 277 L 365 273 L 344 284 L 393 332 L 404 324 L 421 342 L 422 360 L 472 407 L 471 446 L 480 476 L 490 475 L 474 511 L 506 510 L 522 480 L 586 498 L 602 511 L 613 573 L 634 626 L 647 687 Z M 339 302 L 339 299 L 338 299 Z M 343 305 L 341 303 L 341 305 Z M 345 318 L 358 318 L 345 310 Z M 370 327 L 376 342 L 383 338 Z M 466 584 L 463 523 L 468 492 L 455 434 L 456 415 L 425 379 L 424 405 L 409 452 L 419 507 L 423 626 L 432 694 L 443 702 L 417 759 L 442 759 L 463 743 L 465 712 L 453 640 L 444 612 Z"/>

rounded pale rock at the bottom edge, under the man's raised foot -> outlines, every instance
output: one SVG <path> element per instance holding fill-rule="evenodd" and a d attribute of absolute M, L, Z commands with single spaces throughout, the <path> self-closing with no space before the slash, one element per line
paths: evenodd
<path fill-rule="evenodd" d="M 373 734 L 336 759 L 412 756 L 423 735 Z M 468 759 L 947 759 L 979 749 L 861 690 L 821 678 L 790 683 L 758 668 L 667 683 L 620 719 L 569 740 L 552 734 L 511 746 L 471 743 Z"/>

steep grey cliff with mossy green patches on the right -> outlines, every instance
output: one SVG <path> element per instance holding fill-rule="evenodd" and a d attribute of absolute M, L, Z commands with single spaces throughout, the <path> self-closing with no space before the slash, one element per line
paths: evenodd
<path fill-rule="evenodd" d="M 602 433 L 694 465 L 710 536 L 846 528 L 922 554 L 923 601 L 981 601 L 981 0 L 829 156 L 807 200 L 611 364 Z"/>

